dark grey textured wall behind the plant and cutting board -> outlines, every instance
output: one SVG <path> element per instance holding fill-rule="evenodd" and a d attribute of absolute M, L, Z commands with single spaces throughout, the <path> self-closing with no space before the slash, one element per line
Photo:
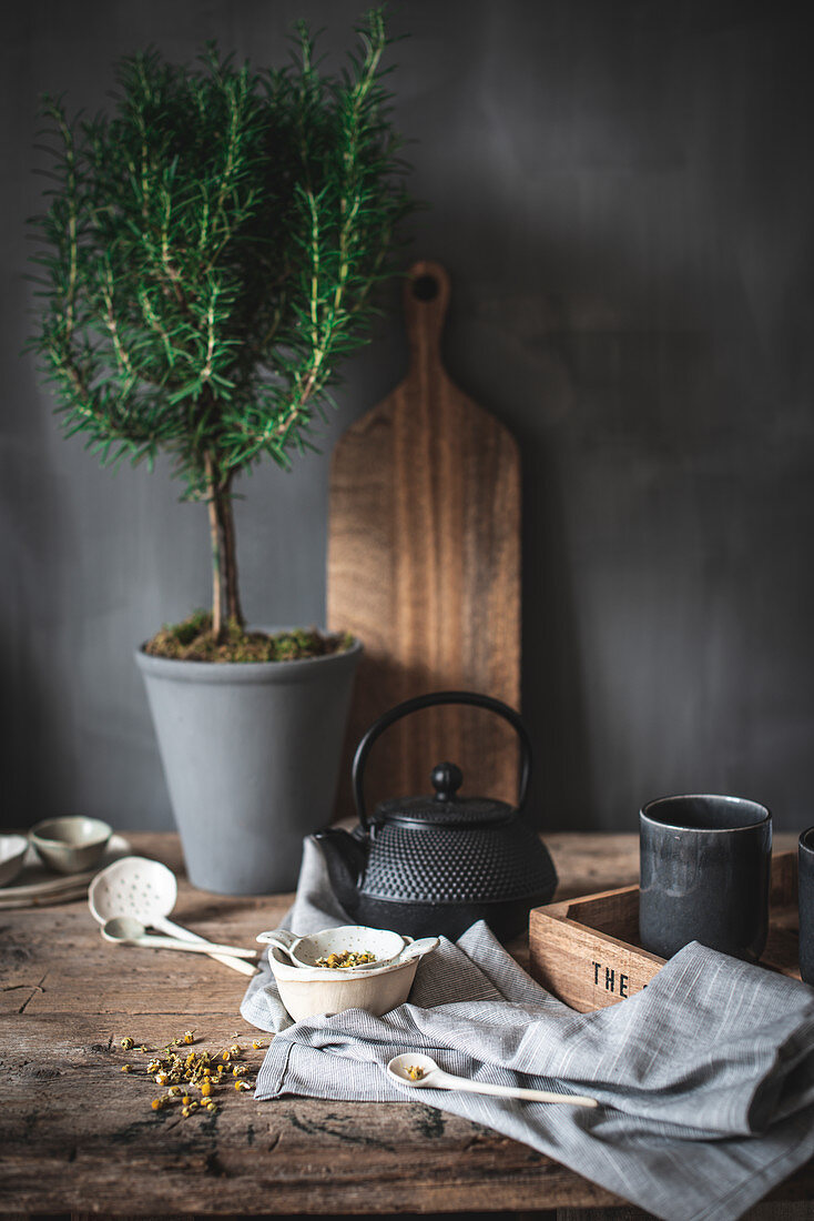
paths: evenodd
<path fill-rule="evenodd" d="M 133 646 L 209 591 L 204 510 L 166 469 L 100 471 L 20 357 L 38 94 L 95 110 L 112 61 L 204 39 L 344 46 L 349 0 L 29 0 L 0 79 L 5 825 L 171 824 Z M 632 829 L 732 791 L 814 822 L 812 170 L 804 5 L 412 0 L 392 28 L 417 140 L 416 256 L 453 276 L 447 361 L 525 455 L 524 701 L 546 825 Z M 340 430 L 400 377 L 394 315 Z M 320 620 L 327 458 L 238 509 L 244 606 Z M 430 761 L 432 762 L 432 761 Z"/>

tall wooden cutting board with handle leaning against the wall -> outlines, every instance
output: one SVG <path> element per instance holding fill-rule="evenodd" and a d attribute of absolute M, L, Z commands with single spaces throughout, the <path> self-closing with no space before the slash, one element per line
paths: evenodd
<path fill-rule="evenodd" d="M 338 814 L 353 812 L 353 750 L 393 705 L 452 689 L 520 705 L 520 455 L 443 368 L 448 305 L 444 269 L 416 263 L 404 292 L 408 375 L 333 453 L 327 621 L 365 646 Z M 450 706 L 399 722 L 376 744 L 369 810 L 431 792 L 430 773 L 445 759 L 464 770 L 461 794 L 516 799 L 509 726 Z"/>

